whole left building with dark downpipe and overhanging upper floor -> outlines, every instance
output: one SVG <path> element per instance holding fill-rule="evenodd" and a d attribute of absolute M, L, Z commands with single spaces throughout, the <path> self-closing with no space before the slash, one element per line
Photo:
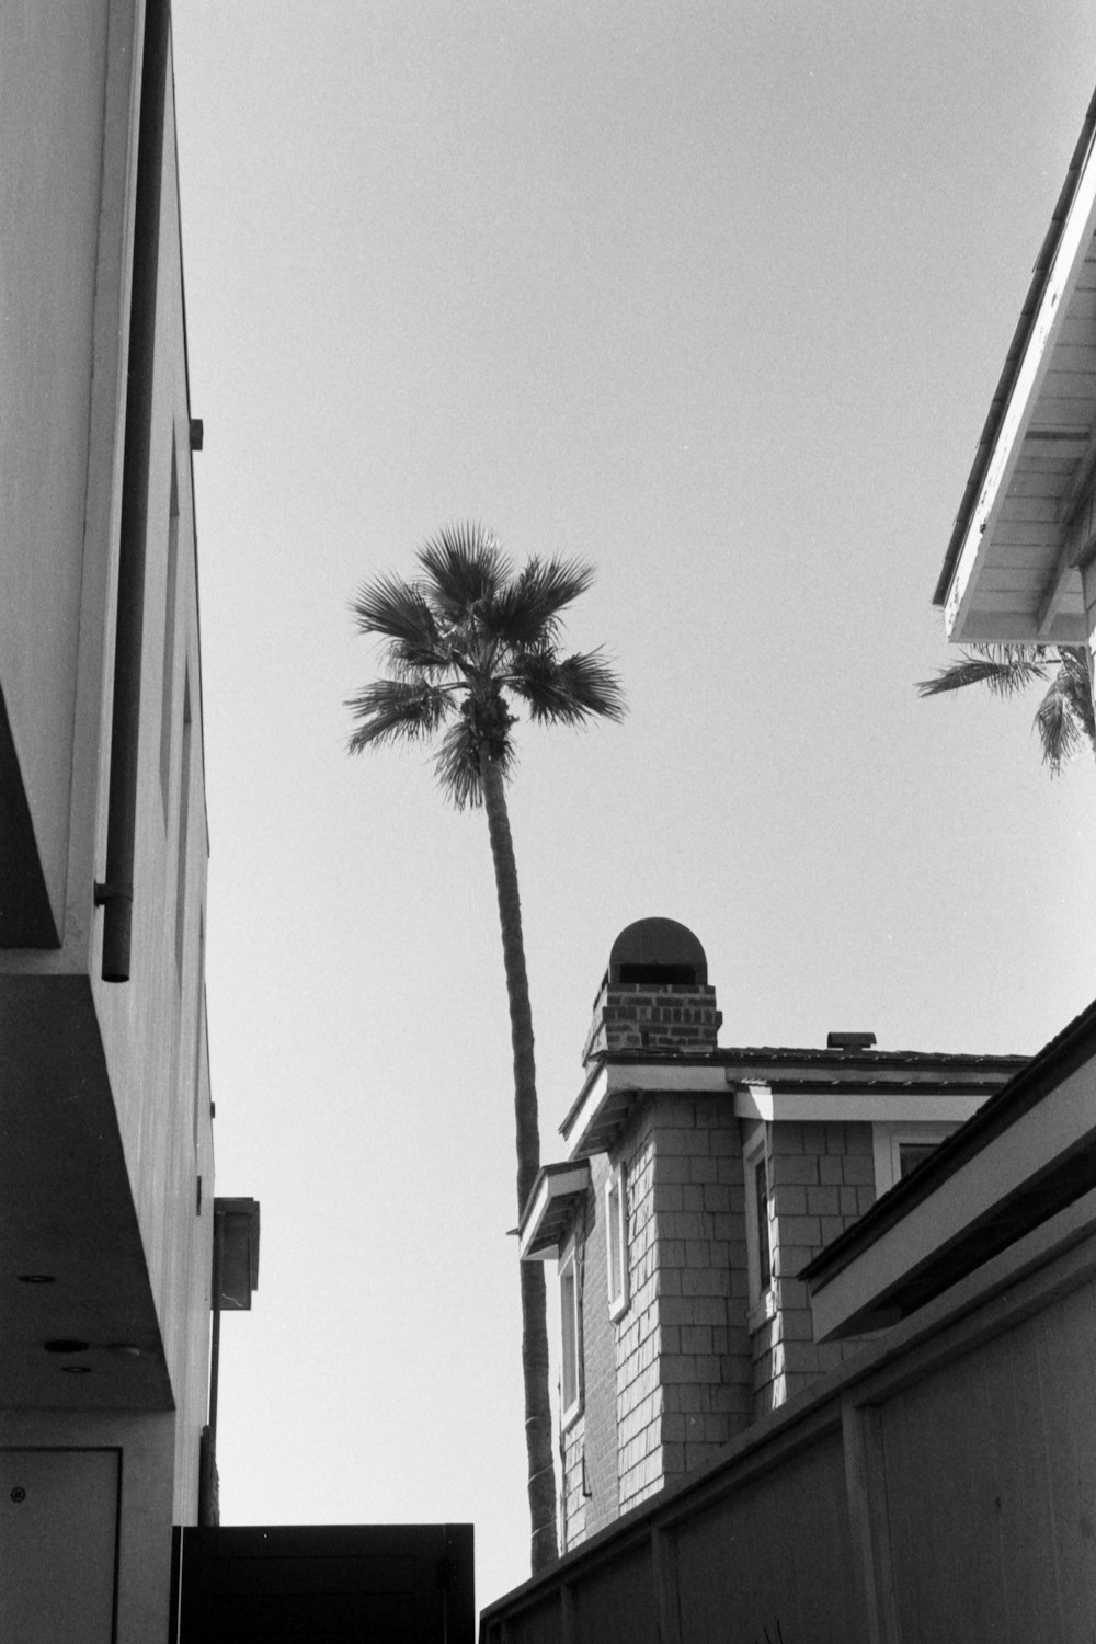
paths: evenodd
<path fill-rule="evenodd" d="M 215 1300 L 168 5 L 3 8 L 0 62 L 0 1636 L 146 1641 Z"/>

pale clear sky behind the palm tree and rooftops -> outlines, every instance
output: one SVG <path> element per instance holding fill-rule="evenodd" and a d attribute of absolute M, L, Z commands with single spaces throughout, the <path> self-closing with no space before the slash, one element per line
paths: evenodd
<path fill-rule="evenodd" d="M 454 518 L 595 562 L 623 727 L 521 733 L 542 1146 L 615 935 L 726 1046 L 1034 1052 L 1096 995 L 1096 769 L 917 699 L 1093 90 L 1084 0 L 174 0 L 212 837 L 225 1522 L 472 1519 L 527 1573 L 481 815 L 345 753 L 347 602 Z"/>

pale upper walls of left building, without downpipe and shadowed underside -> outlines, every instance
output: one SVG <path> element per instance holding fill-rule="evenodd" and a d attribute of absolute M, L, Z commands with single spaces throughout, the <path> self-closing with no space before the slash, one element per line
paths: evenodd
<path fill-rule="evenodd" d="M 53 981 L 89 978 L 177 1407 L 174 1514 L 187 1522 L 207 1406 L 214 1162 L 202 1023 L 202 690 L 171 66 L 130 981 L 102 980 L 104 912 L 94 906 L 107 855 L 143 16 L 143 0 L 0 7 L 0 687 L 62 932 L 59 950 L 2 950 L 0 988 L 5 978 L 23 988 L 33 978 L 48 995 Z M 94 1060 L 85 1057 L 84 1077 Z M 76 1092 L 79 1067 L 72 1077 Z M 117 1225 L 131 1220 L 133 1208 L 110 1205 L 104 1215 Z"/>

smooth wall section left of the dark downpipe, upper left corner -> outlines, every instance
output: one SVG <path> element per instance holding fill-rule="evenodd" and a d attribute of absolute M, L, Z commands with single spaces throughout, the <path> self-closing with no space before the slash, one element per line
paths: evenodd
<path fill-rule="evenodd" d="M 107 0 L 0 8 L 0 687 L 62 922 Z"/>

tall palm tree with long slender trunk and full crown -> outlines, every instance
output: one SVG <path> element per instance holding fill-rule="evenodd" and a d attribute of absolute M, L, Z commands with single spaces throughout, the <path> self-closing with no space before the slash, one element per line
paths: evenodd
<path fill-rule="evenodd" d="M 511 704 L 536 723 L 619 720 L 619 682 L 598 651 L 562 656 L 560 618 L 593 580 L 575 561 L 531 559 L 514 572 L 498 541 L 477 524 L 447 526 L 417 556 L 421 575 L 366 582 L 352 610 L 361 633 L 378 635 L 388 676 L 365 686 L 347 707 L 357 720 L 350 751 L 437 733 L 437 778 L 463 810 L 486 810 L 514 1054 L 518 1213 L 541 1167 L 532 1014 L 521 934 L 518 870 L 506 809 L 513 773 Z M 557 1557 L 555 1468 L 549 1404 L 544 1268 L 521 1264 L 523 1371 L 532 1572 Z"/>

